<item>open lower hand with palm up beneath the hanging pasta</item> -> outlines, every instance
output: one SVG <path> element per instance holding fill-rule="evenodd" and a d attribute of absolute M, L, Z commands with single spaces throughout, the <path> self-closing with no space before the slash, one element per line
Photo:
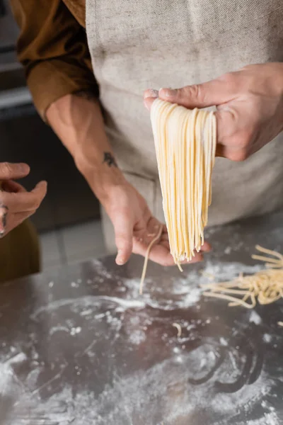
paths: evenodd
<path fill-rule="evenodd" d="M 125 181 L 120 186 L 113 186 L 108 190 L 108 196 L 101 201 L 115 229 L 117 264 L 124 264 L 132 252 L 145 256 L 150 242 L 158 235 L 161 226 L 161 237 L 152 246 L 149 259 L 162 266 L 175 264 L 170 254 L 166 225 L 151 214 L 146 200 L 132 185 Z M 202 261 L 202 252 L 209 249 L 209 244 L 204 242 L 202 251 L 196 253 L 190 262 Z"/>

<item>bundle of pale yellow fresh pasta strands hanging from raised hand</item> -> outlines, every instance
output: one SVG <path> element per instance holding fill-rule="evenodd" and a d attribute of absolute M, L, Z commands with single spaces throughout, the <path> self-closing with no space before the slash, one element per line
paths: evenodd
<path fill-rule="evenodd" d="M 190 261 L 204 243 L 216 147 L 213 112 L 156 99 L 151 124 L 171 254 Z"/>

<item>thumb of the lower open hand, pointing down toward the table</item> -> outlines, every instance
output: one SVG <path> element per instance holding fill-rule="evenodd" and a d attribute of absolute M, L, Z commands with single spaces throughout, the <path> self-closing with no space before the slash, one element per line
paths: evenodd
<path fill-rule="evenodd" d="M 113 221 L 115 230 L 115 244 L 117 246 L 116 263 L 119 266 L 127 263 L 129 257 L 132 254 L 132 237 L 133 237 L 133 225 L 132 220 L 125 215 L 119 215 L 115 217 Z"/>

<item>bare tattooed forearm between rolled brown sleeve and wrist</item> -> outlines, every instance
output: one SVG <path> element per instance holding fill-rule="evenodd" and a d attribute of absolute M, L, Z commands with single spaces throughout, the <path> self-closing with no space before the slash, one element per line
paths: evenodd
<path fill-rule="evenodd" d="M 95 98 L 81 93 L 69 94 L 52 103 L 46 116 L 100 200 L 112 186 L 125 181 L 115 163 Z"/>

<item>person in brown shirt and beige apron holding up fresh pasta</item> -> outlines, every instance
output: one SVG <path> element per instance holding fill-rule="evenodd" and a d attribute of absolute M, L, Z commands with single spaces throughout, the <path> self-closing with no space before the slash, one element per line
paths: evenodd
<path fill-rule="evenodd" d="M 37 111 L 100 200 L 117 264 L 144 255 L 163 222 L 148 111 L 156 96 L 216 106 L 209 225 L 282 206 L 282 0 L 11 5 Z M 208 250 L 204 244 L 193 261 Z M 150 258 L 173 264 L 165 227 Z"/>

